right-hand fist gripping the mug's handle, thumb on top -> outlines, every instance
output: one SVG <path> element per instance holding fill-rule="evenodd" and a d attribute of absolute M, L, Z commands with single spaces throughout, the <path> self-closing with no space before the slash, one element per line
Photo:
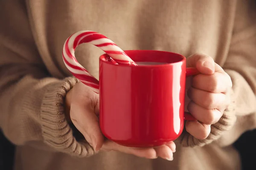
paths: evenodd
<path fill-rule="evenodd" d="M 232 81 L 213 59 L 205 54 L 187 58 L 187 67 L 197 68 L 201 74 L 192 78 L 187 95 L 191 101 L 188 111 L 198 121 L 187 121 L 186 131 L 197 139 L 206 139 L 210 125 L 218 122 L 230 104 Z"/>

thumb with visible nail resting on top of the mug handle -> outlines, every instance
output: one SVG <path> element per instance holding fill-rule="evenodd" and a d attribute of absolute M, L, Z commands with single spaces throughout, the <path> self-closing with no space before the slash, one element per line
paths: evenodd
<path fill-rule="evenodd" d="M 214 74 L 215 62 L 206 54 L 196 53 L 186 59 L 186 66 L 197 68 L 201 74 Z"/>

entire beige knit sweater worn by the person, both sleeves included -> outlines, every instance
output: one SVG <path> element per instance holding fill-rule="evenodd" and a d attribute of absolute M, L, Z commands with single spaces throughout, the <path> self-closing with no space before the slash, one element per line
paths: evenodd
<path fill-rule="evenodd" d="M 61 50 L 70 34 L 100 32 L 123 50 L 211 56 L 233 81 L 232 103 L 205 140 L 184 133 L 174 161 L 94 153 L 64 116 L 77 82 Z M 102 51 L 76 57 L 98 77 Z M 256 127 L 255 0 L 0 0 L 0 127 L 16 170 L 239 170 L 233 142 Z"/>

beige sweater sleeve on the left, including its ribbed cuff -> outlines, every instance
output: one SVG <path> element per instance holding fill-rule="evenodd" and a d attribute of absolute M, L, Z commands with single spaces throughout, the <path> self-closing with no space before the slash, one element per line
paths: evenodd
<path fill-rule="evenodd" d="M 0 1 L 0 128 L 16 145 L 41 143 L 52 151 L 90 156 L 92 147 L 77 142 L 64 116 L 64 97 L 77 79 L 48 73 L 21 2 Z"/>

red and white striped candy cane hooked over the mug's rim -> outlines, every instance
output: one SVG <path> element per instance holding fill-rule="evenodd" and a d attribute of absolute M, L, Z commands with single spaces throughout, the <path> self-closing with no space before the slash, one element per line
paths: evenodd
<path fill-rule="evenodd" d="M 93 44 L 107 53 L 113 64 L 136 65 L 113 41 L 94 31 L 79 31 L 71 35 L 64 43 L 62 57 L 67 69 L 85 85 L 99 94 L 99 81 L 93 77 L 75 57 L 75 49 L 81 43 Z"/>

